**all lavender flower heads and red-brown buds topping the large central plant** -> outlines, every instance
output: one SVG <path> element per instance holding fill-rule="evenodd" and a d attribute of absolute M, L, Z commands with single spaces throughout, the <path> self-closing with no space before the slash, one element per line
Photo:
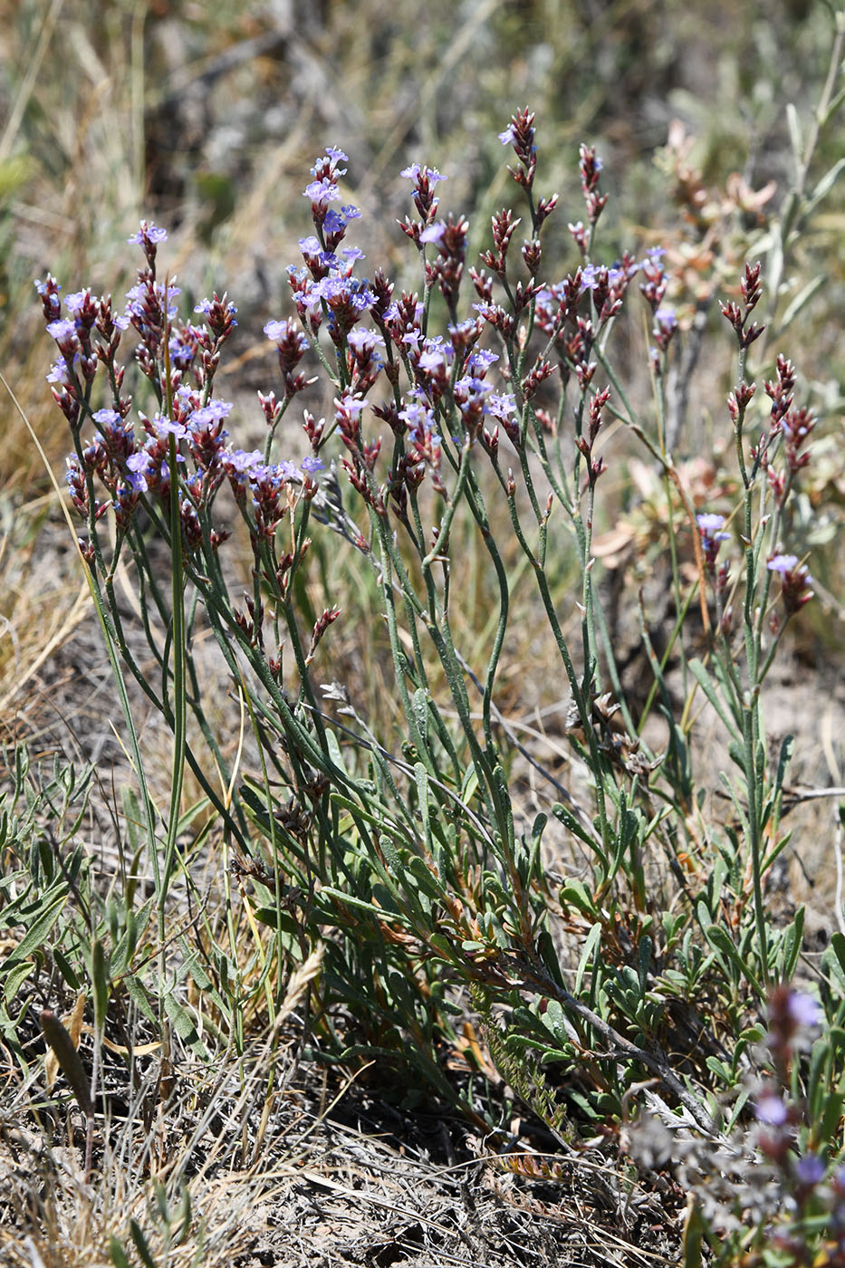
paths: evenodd
<path fill-rule="evenodd" d="M 166 501 L 167 454 L 174 437 L 187 520 L 207 512 L 217 489 L 227 483 L 256 540 L 269 539 L 285 514 L 287 495 L 283 496 L 280 486 L 287 482 L 301 491 L 312 486 L 315 472 L 307 464 L 269 464 L 269 445 L 293 398 L 315 382 L 303 368 L 303 359 L 312 347 L 320 353 L 324 336 L 334 353 L 334 364 L 331 360 L 324 364 L 335 374 L 334 425 L 346 449 L 343 465 L 353 487 L 377 515 L 386 516 L 392 507 L 409 526 L 409 498 L 426 476 L 434 491 L 448 500 L 447 468 L 457 469 L 463 446 L 472 448 L 481 440 L 497 468 L 500 430 L 518 451 L 525 445 L 529 417 L 540 430 L 553 434 L 558 421 L 543 406 L 543 384 L 553 374 L 560 374 L 565 391 L 570 380 L 577 387 L 581 404 L 573 440 L 586 459 L 587 484 L 593 488 L 604 470 L 595 448 L 609 399 L 608 388 L 595 383 L 596 342 L 620 312 L 632 281 L 639 278 L 639 289 L 652 312 L 652 359 L 660 372 L 679 328 L 675 309 L 666 298 L 665 251 L 652 247 L 639 260 L 624 252 L 613 265 L 589 259 L 591 232 L 606 205 L 606 195 L 599 188 L 601 158 L 593 147 L 581 146 L 579 170 L 587 228 L 579 223 L 570 230 L 584 260 L 562 280 L 540 281 L 539 233 L 557 195 L 546 199 L 534 195 L 533 113 L 516 112 L 500 133 L 500 141 L 513 147 L 516 165 L 511 174 L 530 199 L 530 236 L 520 250 L 525 274 L 514 279 L 509 273 L 520 219 L 502 208 L 492 217 L 492 247 L 481 255 L 482 270 L 469 269 L 476 302 L 475 316 L 468 320 L 461 320 L 458 311 L 468 222 L 453 213 L 440 216 L 438 186 L 445 176 L 421 162 L 402 172 L 412 183 L 416 216 L 406 217 L 401 228 L 422 256 L 425 295 L 420 298 L 414 292 L 396 295 L 393 283 L 382 270 L 376 270 L 370 279 L 357 275 L 363 256 L 358 247 L 346 243 L 346 233 L 360 213 L 341 195 L 346 155 L 329 147 L 317 158 L 311 169 L 312 180 L 303 191 L 311 207 L 313 233 L 299 241 L 302 264 L 288 270 L 296 317 L 273 320 L 264 327 L 275 346 L 283 384 L 278 397 L 274 392 L 259 393 L 269 432 L 264 454 L 249 455 L 232 448 L 225 426 L 230 407 L 212 391 L 221 347 L 237 326 L 237 309 L 226 294 L 213 294 L 194 308 L 200 323 L 180 320 L 175 279 L 162 283 L 156 276 L 159 247 L 166 241 L 164 230 L 145 221 L 129 240 L 142 247 L 146 266 L 138 271 L 122 312 L 113 309 L 110 297 L 96 299 L 90 290 L 82 290 L 69 297 L 65 314 L 56 280 L 48 276 L 38 283 L 47 328 L 58 351 L 49 374 L 53 394 L 76 431 L 86 415 L 98 425 L 93 440 L 80 444 L 79 453 L 69 462 L 69 487 L 80 515 L 93 522 L 108 508 L 109 503 L 103 506 L 94 498 L 94 476 L 109 492 L 122 526 L 128 525 L 140 500 L 157 496 Z M 508 293 L 508 307 L 494 293 L 496 283 Z M 435 287 L 449 314 L 445 336 L 428 331 L 426 297 Z M 759 265 L 746 266 L 740 290 L 742 304 L 726 303 L 723 312 L 746 350 L 760 333 L 760 327 L 750 322 L 761 290 Z M 534 328 L 547 342 L 533 361 L 519 358 L 523 369 L 515 378 L 516 327 L 529 311 Z M 151 420 L 140 416 L 142 431 L 137 440 L 136 429 L 128 422 L 132 402 L 121 396 L 124 369 L 117 360 L 121 339 L 129 328 L 138 336 L 134 359 L 159 399 L 159 411 Z M 482 347 L 485 333 L 492 336 L 496 351 Z M 88 401 L 99 364 L 107 366 L 117 396 L 107 410 L 91 413 Z M 388 397 L 382 401 L 372 398 L 379 380 L 390 387 Z M 796 473 L 807 462 L 806 440 L 813 420 L 808 411 L 794 408 L 794 370 L 784 358 L 778 358 L 774 383 L 765 387 L 773 402 L 770 430 L 752 450 L 752 458 L 766 469 L 782 507 Z M 754 384 L 741 383 L 730 398 L 728 407 L 740 429 L 752 396 Z M 368 437 L 364 426 L 368 408 L 395 436 L 393 462 L 383 474 L 378 464 L 381 437 Z M 327 435 L 325 424 L 317 425 L 306 412 L 306 432 L 312 446 L 307 462 L 316 465 Z M 783 469 L 770 462 L 775 439 L 782 440 Z M 726 564 L 717 567 L 719 545 L 727 540 L 723 519 L 699 515 L 698 530 L 704 564 L 721 596 L 728 577 Z M 189 535 L 197 540 L 194 529 Z M 214 540 L 222 536 L 217 534 Z M 809 574 L 793 555 L 775 554 L 768 567 L 780 578 L 789 616 L 812 596 Z"/>

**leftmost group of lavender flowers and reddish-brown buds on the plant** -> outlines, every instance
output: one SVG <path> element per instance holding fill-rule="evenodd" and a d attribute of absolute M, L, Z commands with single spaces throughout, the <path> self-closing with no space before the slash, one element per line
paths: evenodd
<path fill-rule="evenodd" d="M 62 313 L 61 288 L 55 278 L 37 281 L 47 320 L 47 333 L 56 341 L 58 360 L 48 374 L 56 402 L 71 425 L 75 453 L 67 459 L 67 486 L 79 515 L 94 526 L 112 510 L 118 541 L 133 527 L 138 507 L 147 511 L 157 505 L 166 522 L 171 497 L 171 463 L 179 468 L 179 515 L 183 547 L 197 557 L 203 544 L 216 552 L 228 536 L 225 527 L 211 522 L 211 507 L 217 491 L 227 481 L 235 489 L 241 512 L 256 538 L 266 535 L 268 522 L 278 524 L 279 497 L 287 512 L 285 487 L 307 491 L 312 473 L 322 464 L 308 458 L 302 467 L 288 463 L 275 470 L 273 496 L 266 483 L 266 463 L 258 451 L 247 456 L 228 444 L 226 421 L 230 402 L 213 396 L 213 378 L 221 347 L 237 327 L 236 307 L 226 294 L 214 294 L 194 308 L 203 321 L 185 322 L 179 316 L 179 287 L 156 278 L 156 255 L 166 241 L 165 230 L 147 221 L 129 238 L 140 245 L 146 268 L 138 270 L 136 284 L 127 292 L 123 311 L 115 311 L 110 295 L 99 298 L 90 288 L 66 298 Z M 282 325 L 282 323 L 277 323 Z M 124 333 L 133 330 L 138 339 L 134 360 L 148 379 L 159 408 L 151 416 L 137 412 L 132 422 L 132 398 L 122 394 L 126 366 L 118 360 Z M 307 347 L 305 336 L 292 327 L 273 331 L 279 347 L 284 380 L 284 403 L 302 391 L 306 380 L 296 365 Z M 90 404 L 100 366 L 110 385 L 112 403 L 102 408 Z M 279 411 L 275 411 L 278 421 Z M 85 420 L 95 430 L 90 440 L 81 437 Z M 109 500 L 100 502 L 95 481 Z M 273 483 L 273 482 L 270 482 Z M 249 489 L 251 497 L 246 497 Z M 81 543 L 89 562 L 95 558 L 94 543 Z"/>

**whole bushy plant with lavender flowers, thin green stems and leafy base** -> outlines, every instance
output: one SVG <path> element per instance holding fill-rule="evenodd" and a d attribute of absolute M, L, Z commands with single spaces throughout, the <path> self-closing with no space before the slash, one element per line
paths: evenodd
<path fill-rule="evenodd" d="M 812 595 L 806 563 L 789 553 L 788 514 L 812 417 L 796 404 L 792 363 L 778 356 L 759 429 L 763 393 L 746 378 L 761 283 L 759 265 L 747 265 L 737 299 L 723 306 L 738 345 L 728 411 L 741 503 L 697 515 L 666 448 L 666 369 L 679 322 L 665 252 L 601 262 L 601 161 L 582 146 L 584 218 L 570 226 L 577 262 L 563 274 L 543 247 L 558 199 L 535 188 L 534 115 L 514 114 L 500 139 L 515 156 L 524 212 L 521 222 L 506 208 L 492 217 L 478 269 L 467 268 L 467 221 L 440 213 L 445 178 L 421 164 L 402 174 L 414 214 L 401 228 L 419 254 L 419 290 L 400 292 L 381 269 L 359 274 L 362 252 L 346 240 L 359 213 L 340 195 L 346 157 L 330 148 L 316 162 L 305 190 L 313 235 L 299 243 L 303 264 L 289 270 L 296 317 L 265 327 L 282 388 L 259 396 L 260 449 L 236 448 L 232 407 L 214 393 L 236 308 L 214 294 L 195 320 L 180 316 L 179 288 L 159 270 L 162 230 L 143 222 L 131 240 L 145 265 L 124 309 L 89 289 L 62 308 L 56 280 L 38 284 L 58 349 L 49 378 L 74 439 L 67 483 L 85 525 L 80 550 L 115 673 L 122 683 L 122 663 L 175 739 L 162 813 L 143 785 L 121 687 L 155 867 L 160 971 L 165 980 L 167 893 L 179 871 L 190 884 L 179 836 L 187 762 L 227 848 L 237 851 L 242 914 L 233 891 L 232 951 L 241 921 L 258 946 L 260 971 L 244 979 L 244 998 L 227 1017 L 233 1033 L 246 995 L 265 998 L 272 1018 L 285 964 L 322 943 L 312 1025 L 335 1051 L 344 1044 L 348 1056 L 400 1051 L 477 1117 L 472 1087 L 457 1092 L 438 1059 L 445 1042 L 472 1060 L 472 1045 L 461 1045 L 454 1028 L 462 993 L 469 994 L 500 1071 L 558 1139 L 561 1096 L 579 1115 L 618 1122 L 643 1071 L 713 1131 L 717 1092 L 741 1110 L 769 984 L 792 976 L 801 950 L 801 913 L 785 928 L 766 913 L 765 875 L 787 841 L 779 817 L 789 744 L 771 771 L 761 689 L 784 626 Z M 653 421 L 636 415 L 613 358 L 614 327 L 643 298 Z M 119 360 L 129 330 L 132 396 Z M 334 412 L 329 421 L 305 412 L 292 458 L 280 424 L 311 385 L 308 356 Z M 670 517 L 670 648 L 680 654 L 684 702 L 675 709 L 666 657 L 643 625 L 655 691 L 639 716 L 622 690 L 593 550 L 614 420 L 645 445 L 679 508 Z M 240 517 L 249 538 L 244 598 L 226 564 L 225 515 Z M 497 596 L 480 664 L 462 650 L 453 620 L 458 525 L 475 526 Z M 562 547 L 558 525 L 580 569 L 575 643 L 549 568 Z M 406 728 L 398 746 L 369 729 L 343 683 L 315 681 L 318 647 L 343 620 L 343 593 L 326 593 L 307 625 L 303 615 L 303 595 L 316 585 L 308 560 L 325 553 L 330 533 L 367 560 L 378 590 Z M 497 705 L 513 598 L 504 535 L 533 574 L 571 695 L 568 738 L 587 772 L 577 792 L 544 772 L 557 850 L 568 860 L 567 851 L 582 848 L 587 858 L 576 865 L 572 855 L 562 881 L 543 855 L 553 837 L 547 815 L 520 819 L 514 737 Z M 167 586 L 151 549 L 156 538 L 173 559 Z M 733 543 L 741 562 L 731 559 Z M 691 583 L 684 559 L 694 562 Z M 155 678 L 132 650 L 115 597 L 115 571 L 129 560 Z M 684 618 L 694 614 L 705 638 L 699 659 L 685 652 Z M 203 623 L 252 723 L 258 770 L 240 784 L 192 658 Z M 733 806 L 726 825 L 709 820 L 694 779 L 693 721 L 703 697 L 738 772 L 724 776 Z M 667 728 L 661 752 L 643 735 L 652 699 Z M 189 710 L 212 762 L 188 737 Z M 565 935 L 568 945 L 576 937 L 571 962 Z M 346 1038 L 336 1030 L 337 1003 L 348 1007 Z M 741 1032 L 726 1055 L 726 1036 Z"/>

